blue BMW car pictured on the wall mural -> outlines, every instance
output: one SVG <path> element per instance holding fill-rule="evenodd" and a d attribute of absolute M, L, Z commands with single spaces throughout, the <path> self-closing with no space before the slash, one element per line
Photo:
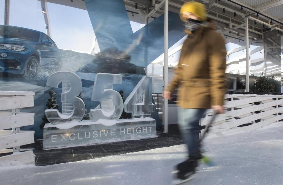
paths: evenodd
<path fill-rule="evenodd" d="M 53 69 L 59 66 L 60 49 L 43 32 L 0 25 L 0 72 L 36 78 L 39 66 Z"/>

